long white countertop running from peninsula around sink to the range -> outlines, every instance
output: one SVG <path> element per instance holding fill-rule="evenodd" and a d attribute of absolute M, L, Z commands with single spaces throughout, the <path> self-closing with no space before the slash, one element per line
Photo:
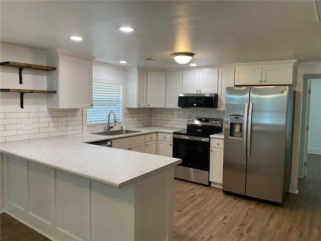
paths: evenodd
<path fill-rule="evenodd" d="M 2 143 L 2 153 L 79 175 L 117 188 L 132 184 L 181 159 L 90 145 L 85 142 L 112 140 L 154 132 L 173 133 L 179 129 L 142 127 L 141 133 L 121 136 L 80 134 L 73 136 Z"/>

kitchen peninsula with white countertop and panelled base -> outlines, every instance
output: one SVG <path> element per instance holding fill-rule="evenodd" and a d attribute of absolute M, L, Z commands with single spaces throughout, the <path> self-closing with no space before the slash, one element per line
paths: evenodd
<path fill-rule="evenodd" d="M 102 139 L 2 144 L 6 212 L 53 240 L 171 240 L 181 160 L 84 143 Z"/>

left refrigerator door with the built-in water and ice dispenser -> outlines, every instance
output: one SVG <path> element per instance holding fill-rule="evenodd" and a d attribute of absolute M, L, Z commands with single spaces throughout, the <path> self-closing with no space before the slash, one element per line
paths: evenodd
<path fill-rule="evenodd" d="M 249 93 L 250 87 L 227 87 L 225 95 L 223 191 L 242 195 L 245 195 L 246 123 Z M 240 116 L 238 120 L 243 120 L 241 127 L 235 119 L 237 116 Z M 235 132 L 231 129 L 231 119 L 236 124 Z M 242 135 L 235 135 L 235 133 L 240 134 L 239 129 Z"/>

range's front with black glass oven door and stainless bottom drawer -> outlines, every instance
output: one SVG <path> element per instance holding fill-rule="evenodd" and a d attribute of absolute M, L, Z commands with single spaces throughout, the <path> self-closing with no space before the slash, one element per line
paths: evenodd
<path fill-rule="evenodd" d="M 173 157 L 182 159 L 174 177 L 209 185 L 210 139 L 173 135 Z"/>

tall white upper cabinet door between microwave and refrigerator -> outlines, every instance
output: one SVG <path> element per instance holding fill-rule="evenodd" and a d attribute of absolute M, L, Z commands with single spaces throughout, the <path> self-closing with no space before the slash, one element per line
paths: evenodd
<path fill-rule="evenodd" d="M 234 86 L 234 72 L 235 68 L 219 69 L 219 89 L 218 89 L 218 103 L 217 109 L 225 109 L 225 93 L 226 87 Z"/>

